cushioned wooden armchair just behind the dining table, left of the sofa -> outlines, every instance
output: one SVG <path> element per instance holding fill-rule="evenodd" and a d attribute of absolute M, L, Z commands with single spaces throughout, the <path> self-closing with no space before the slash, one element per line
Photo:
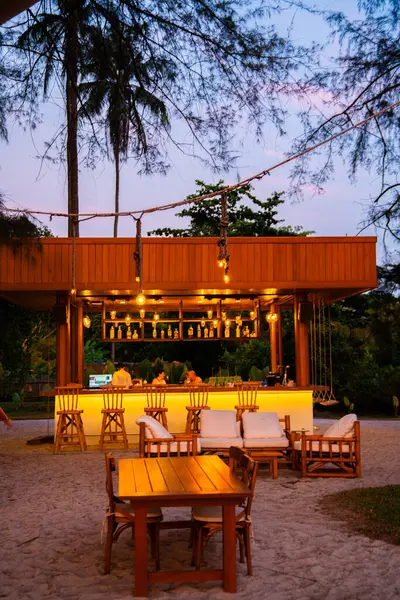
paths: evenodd
<path fill-rule="evenodd" d="M 200 450 L 197 433 L 169 433 L 160 423 L 154 427 L 148 419 L 140 417 L 136 421 L 139 425 L 140 458 L 194 456 Z"/>

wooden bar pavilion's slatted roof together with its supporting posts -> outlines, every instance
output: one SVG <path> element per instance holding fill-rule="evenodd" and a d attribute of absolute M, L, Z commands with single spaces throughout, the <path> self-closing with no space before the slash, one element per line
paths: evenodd
<path fill-rule="evenodd" d="M 21 247 L 0 246 L 0 296 L 33 310 L 54 306 L 57 385 L 82 383 L 84 312 L 104 302 L 134 302 L 133 238 L 78 238 L 72 290 L 71 238 L 43 238 Z M 143 292 L 148 310 L 157 301 L 257 299 L 262 311 L 290 308 L 294 315 L 296 382 L 310 383 L 308 320 L 303 308 L 371 290 L 377 285 L 375 237 L 272 237 L 229 240 L 230 280 L 217 264 L 217 238 L 143 239 Z M 159 306 L 158 310 L 163 310 Z M 182 324 L 179 325 L 180 334 Z M 220 327 L 220 326 L 219 326 Z M 280 323 L 270 327 L 272 367 L 282 364 Z M 118 341 L 117 339 L 115 340 Z M 274 369 L 273 369 L 274 370 Z"/>

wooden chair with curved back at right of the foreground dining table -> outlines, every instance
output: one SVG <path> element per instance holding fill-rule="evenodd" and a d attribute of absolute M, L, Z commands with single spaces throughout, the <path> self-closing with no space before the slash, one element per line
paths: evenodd
<path fill-rule="evenodd" d="M 248 486 L 251 496 L 243 506 L 236 507 L 236 538 L 239 542 L 240 562 L 246 557 L 247 573 L 253 574 L 250 547 L 251 505 L 256 485 L 258 463 L 244 453 L 240 448 L 230 448 L 229 466 L 232 474 L 240 471 L 240 479 Z M 220 506 L 204 506 L 193 508 L 192 519 L 194 526 L 192 562 L 196 569 L 200 568 L 203 550 L 212 535 L 222 532 L 222 508 Z"/>

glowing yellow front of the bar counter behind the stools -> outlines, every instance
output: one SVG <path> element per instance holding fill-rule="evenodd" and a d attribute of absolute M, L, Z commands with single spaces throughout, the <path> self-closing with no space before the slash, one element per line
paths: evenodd
<path fill-rule="evenodd" d="M 279 417 L 290 415 L 291 429 L 313 428 L 313 390 L 324 387 L 258 387 L 257 405 L 260 411 L 277 412 Z M 43 395 L 54 395 L 50 391 Z M 211 387 L 208 394 L 208 406 L 214 410 L 234 410 L 238 404 L 238 392 L 234 387 Z M 187 386 L 166 386 L 167 420 L 170 432 L 182 432 L 186 424 L 186 406 L 189 405 Z M 137 386 L 124 392 L 125 427 L 130 445 L 138 445 L 139 427 L 136 419 L 144 415 L 146 404 L 146 386 Z M 79 408 L 83 410 L 82 420 L 87 444 L 99 443 L 101 430 L 101 409 L 103 393 L 101 390 L 82 389 L 79 393 Z M 59 409 L 56 396 L 55 410 Z M 55 415 L 57 421 L 57 415 Z"/>

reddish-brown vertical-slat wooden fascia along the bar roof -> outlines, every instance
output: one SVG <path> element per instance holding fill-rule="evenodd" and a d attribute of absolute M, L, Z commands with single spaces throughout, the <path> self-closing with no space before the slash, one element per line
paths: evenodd
<path fill-rule="evenodd" d="M 231 238 L 230 284 L 217 265 L 215 238 L 146 238 L 146 290 L 227 287 L 261 290 L 373 288 L 375 237 Z M 132 290 L 135 241 L 80 238 L 76 242 L 76 286 L 88 290 Z M 14 253 L 0 246 L 0 290 L 68 290 L 72 286 L 72 242 L 44 239 L 42 249 Z"/>

